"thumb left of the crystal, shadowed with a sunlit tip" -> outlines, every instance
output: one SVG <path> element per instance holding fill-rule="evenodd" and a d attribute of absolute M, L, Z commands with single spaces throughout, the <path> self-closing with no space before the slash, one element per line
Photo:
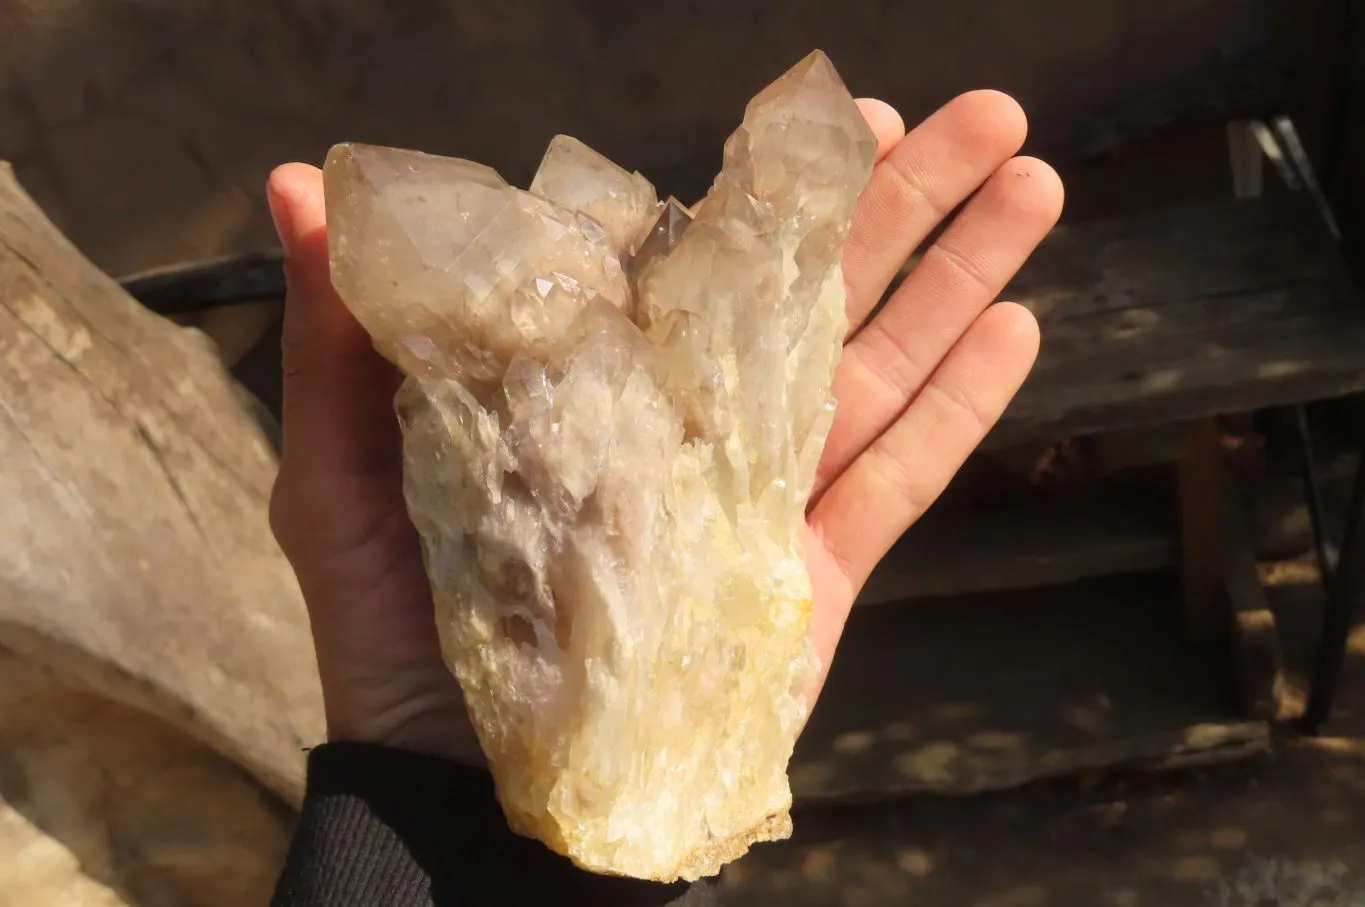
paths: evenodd
<path fill-rule="evenodd" d="M 285 164 L 266 186 L 285 249 L 284 460 L 321 475 L 396 469 L 394 372 L 347 311 L 328 264 L 322 171 Z"/>

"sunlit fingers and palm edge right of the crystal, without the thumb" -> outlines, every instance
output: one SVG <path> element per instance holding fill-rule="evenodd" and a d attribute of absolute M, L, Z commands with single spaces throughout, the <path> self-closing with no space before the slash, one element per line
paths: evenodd
<path fill-rule="evenodd" d="M 995 298 L 1057 224 L 1063 201 L 1051 167 L 1014 157 L 1026 120 L 999 92 L 962 94 L 905 138 L 895 111 L 859 104 L 878 135 L 879 163 L 844 251 L 850 336 L 807 511 L 823 665 L 812 703 L 872 568 L 938 500 L 1033 367 L 1037 322 Z M 906 258 L 968 197 L 870 318 Z"/>

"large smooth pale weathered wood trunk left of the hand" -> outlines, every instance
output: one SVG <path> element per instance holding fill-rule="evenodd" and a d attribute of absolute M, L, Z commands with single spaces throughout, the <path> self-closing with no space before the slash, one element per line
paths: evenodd
<path fill-rule="evenodd" d="M 149 313 L 0 164 L 0 645 L 281 796 L 321 738 L 274 460 L 210 344 Z"/>

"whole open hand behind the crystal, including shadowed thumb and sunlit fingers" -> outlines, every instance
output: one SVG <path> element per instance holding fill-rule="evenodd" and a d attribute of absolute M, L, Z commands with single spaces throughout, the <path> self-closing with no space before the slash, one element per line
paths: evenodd
<path fill-rule="evenodd" d="M 1024 113 L 1002 94 L 965 94 L 909 135 L 887 105 L 860 105 L 880 163 L 844 260 L 850 337 L 807 537 L 826 665 L 872 567 L 939 496 L 1032 367 L 1033 317 L 991 303 L 1062 205 L 1047 164 L 1013 157 Z M 901 264 L 973 193 L 867 321 Z M 404 510 L 392 407 L 399 376 L 332 288 L 321 171 L 287 164 L 272 173 L 268 195 L 289 283 L 284 455 L 270 518 L 308 605 L 328 735 L 476 758 Z"/>

